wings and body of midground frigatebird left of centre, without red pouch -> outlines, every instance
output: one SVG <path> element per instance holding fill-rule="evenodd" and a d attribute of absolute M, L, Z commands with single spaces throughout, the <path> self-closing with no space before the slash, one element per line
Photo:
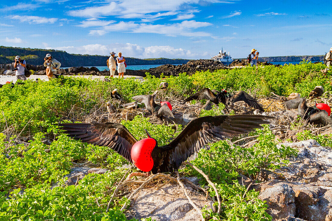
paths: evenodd
<path fill-rule="evenodd" d="M 156 94 L 155 91 L 152 95 L 138 95 L 132 97 L 134 101 L 145 104 L 146 109 L 152 114 L 152 116 L 157 116 L 162 118 L 163 116 L 173 117 L 174 115 L 167 104 L 159 105 L 154 102 Z"/>

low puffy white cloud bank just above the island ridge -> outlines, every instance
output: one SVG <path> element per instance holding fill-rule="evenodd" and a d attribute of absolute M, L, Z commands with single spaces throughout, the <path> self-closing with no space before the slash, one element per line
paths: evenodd
<path fill-rule="evenodd" d="M 46 44 L 46 43 L 45 43 Z M 46 49 L 50 49 L 49 45 L 46 44 Z M 164 46 L 148 46 L 142 47 L 137 44 L 131 43 L 112 43 L 110 45 L 103 44 L 88 44 L 79 47 L 64 46 L 55 47 L 53 49 L 65 50 L 68 53 L 79 53 L 79 54 L 98 54 L 98 55 L 109 55 L 111 51 L 116 53 L 122 52 L 124 57 L 137 57 L 137 58 L 197 58 L 206 56 L 207 52 L 198 53 L 197 51 L 192 52 L 184 48 L 174 48 L 169 45 Z"/>

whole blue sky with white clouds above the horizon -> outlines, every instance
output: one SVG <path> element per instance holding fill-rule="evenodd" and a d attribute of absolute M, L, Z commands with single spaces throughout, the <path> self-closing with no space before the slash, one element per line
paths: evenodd
<path fill-rule="evenodd" d="M 325 2 L 325 3 L 324 3 Z M 137 58 L 319 55 L 332 47 L 328 1 L 0 0 L 0 45 Z"/>

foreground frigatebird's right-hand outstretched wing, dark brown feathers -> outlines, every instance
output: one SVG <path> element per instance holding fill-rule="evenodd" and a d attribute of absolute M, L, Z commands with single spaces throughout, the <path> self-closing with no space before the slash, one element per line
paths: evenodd
<path fill-rule="evenodd" d="M 169 164 L 180 167 L 192 154 L 207 143 L 248 133 L 261 124 L 269 123 L 274 117 L 263 115 L 220 115 L 205 116 L 190 121 L 186 128 L 164 148 L 169 148 Z M 169 167 L 171 167 L 169 165 Z"/>

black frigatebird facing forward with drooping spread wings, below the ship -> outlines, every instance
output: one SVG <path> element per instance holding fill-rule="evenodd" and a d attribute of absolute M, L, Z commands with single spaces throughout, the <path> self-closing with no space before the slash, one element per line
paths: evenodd
<path fill-rule="evenodd" d="M 225 106 L 228 106 L 238 101 L 244 101 L 249 106 L 264 112 L 264 109 L 258 104 L 257 100 L 252 98 L 249 94 L 245 93 L 244 91 L 239 91 L 238 93 L 232 95 L 228 93 L 226 90 L 222 90 L 221 92 L 219 92 L 216 90 L 211 91 L 208 88 L 204 88 L 199 92 L 186 98 L 183 101 L 183 103 L 192 100 L 202 100 L 202 99 L 210 100 L 212 103 L 216 105 L 218 105 L 219 103 L 223 103 Z"/>

